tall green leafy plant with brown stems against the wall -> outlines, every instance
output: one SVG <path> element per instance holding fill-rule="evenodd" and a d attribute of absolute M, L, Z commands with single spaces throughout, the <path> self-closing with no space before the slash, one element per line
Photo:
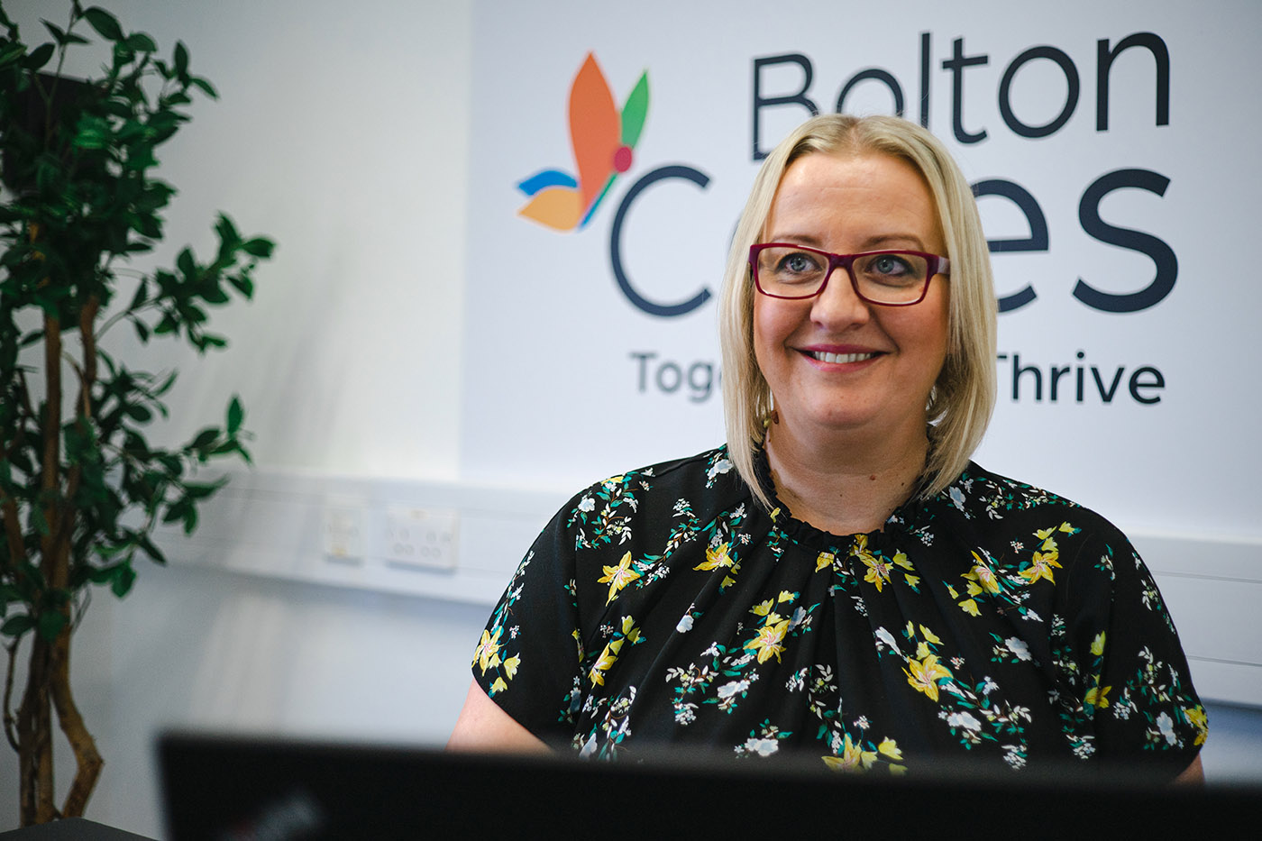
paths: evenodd
<path fill-rule="evenodd" d="M 215 88 L 189 72 L 183 43 L 159 58 L 153 38 L 101 8 L 73 0 L 64 27 L 42 23 L 52 40 L 28 47 L 0 3 L 0 640 L 23 826 L 81 814 L 101 772 L 71 691 L 71 635 L 90 591 L 125 596 L 138 558 L 163 562 L 154 529 L 191 533 L 221 487 L 198 468 L 249 460 L 235 398 L 222 424 L 182 447 L 151 446 L 146 429 L 167 417 L 175 373 L 130 369 L 109 350 L 114 328 L 221 349 L 208 307 L 250 298 L 255 264 L 273 251 L 221 215 L 208 261 L 186 248 L 172 269 L 139 269 L 175 193 L 154 176 L 156 152 L 188 121 L 193 95 Z M 67 52 L 93 35 L 101 75 L 63 76 Z M 54 712 L 76 760 L 61 806 Z"/>

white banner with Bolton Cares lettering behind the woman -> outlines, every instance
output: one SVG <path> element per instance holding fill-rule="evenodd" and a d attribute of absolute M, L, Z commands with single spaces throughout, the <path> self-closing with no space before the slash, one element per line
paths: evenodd
<path fill-rule="evenodd" d="M 577 490 L 722 442 L 760 157 L 811 109 L 901 111 L 994 253 L 977 460 L 1127 528 L 1262 535 L 1262 4 L 769 9 L 476 5 L 463 477 Z"/>

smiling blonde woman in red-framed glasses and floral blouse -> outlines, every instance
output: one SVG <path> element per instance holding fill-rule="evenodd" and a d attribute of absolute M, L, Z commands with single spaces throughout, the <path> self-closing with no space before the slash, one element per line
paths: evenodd
<path fill-rule="evenodd" d="M 893 117 L 800 126 L 728 259 L 728 444 L 554 518 L 482 634 L 451 746 L 1199 778 L 1204 710 L 1124 535 L 969 461 L 994 313 L 936 139 Z"/>

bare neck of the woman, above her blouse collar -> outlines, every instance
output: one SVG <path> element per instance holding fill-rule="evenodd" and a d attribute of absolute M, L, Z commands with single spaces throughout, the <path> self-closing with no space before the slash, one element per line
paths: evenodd
<path fill-rule="evenodd" d="M 771 479 L 789 513 L 833 534 L 878 530 L 915 492 L 925 468 L 925 427 L 880 439 L 795 434 L 787 422 L 766 438 Z"/>

